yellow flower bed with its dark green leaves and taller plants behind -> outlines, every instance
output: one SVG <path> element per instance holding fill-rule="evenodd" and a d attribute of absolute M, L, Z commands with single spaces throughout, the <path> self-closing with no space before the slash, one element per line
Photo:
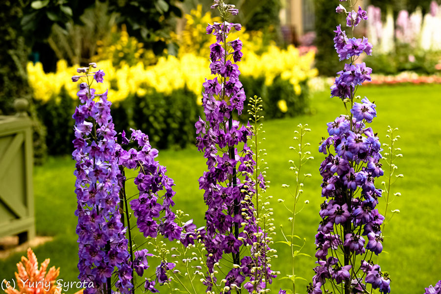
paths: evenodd
<path fill-rule="evenodd" d="M 241 5 L 245 4 L 249 5 L 246 1 Z M 79 18 L 83 25 L 71 21 L 66 28 L 52 26 L 48 43 L 59 60 L 55 69 L 47 72 L 41 63 L 27 66 L 39 116 L 51 134 L 50 154 L 72 150 L 73 120 L 67 113 L 73 113 L 76 106 L 77 85 L 70 76 L 78 64 L 90 61 L 98 62 L 105 70 L 105 81 L 98 87 L 99 91 L 109 89 L 118 131 L 142 129 L 158 148 L 182 148 L 195 143 L 194 124 L 201 115 L 202 83 L 210 78 L 209 46 L 215 42 L 205 28 L 219 18 L 213 18 L 211 11 L 203 12 L 201 4 L 190 7 L 183 3 L 182 9 L 190 10 L 175 20 L 177 29 L 170 31 L 161 54 L 130 35 L 127 25 L 118 25 L 118 17 L 108 13 L 108 3 L 97 2 L 87 8 Z M 262 10 L 257 9 L 253 15 L 257 17 L 259 13 Z M 268 27 L 277 25 L 273 20 L 268 22 Z M 87 34 L 89 31 L 92 33 Z M 230 40 L 238 37 L 244 43 L 244 58 L 239 66 L 245 93 L 264 98 L 266 117 L 308 112 L 307 82 L 317 75 L 314 52 L 302 53 L 293 46 L 283 49 L 267 32 L 245 26 L 229 36 Z M 178 50 L 171 52 L 171 48 Z M 240 119 L 247 120 L 246 116 Z"/>

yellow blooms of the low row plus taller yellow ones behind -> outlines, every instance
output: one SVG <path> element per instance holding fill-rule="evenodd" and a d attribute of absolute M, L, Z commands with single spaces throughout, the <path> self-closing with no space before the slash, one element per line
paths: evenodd
<path fill-rule="evenodd" d="M 215 39 L 214 36 L 205 34 L 206 22 L 211 18 L 208 13 L 202 16 L 201 7 L 193 10 L 190 15 L 186 16 L 186 19 L 187 25 L 181 34 L 181 39 L 177 40 L 181 47 L 179 56 L 159 57 L 154 65 L 145 65 L 146 63 L 143 60 L 135 64 L 132 58 L 130 58 L 130 64 L 134 64 L 132 66 L 127 65 L 124 60 L 119 66 L 112 64 L 115 58 L 110 60 L 112 56 L 109 55 L 117 55 L 115 50 L 121 44 L 125 44 L 122 48 L 126 48 L 127 44 L 130 44 L 128 47 L 137 49 L 136 54 L 144 52 L 142 47 L 136 43 L 136 40 L 128 37 L 123 29 L 121 40 L 116 43 L 115 48 L 110 50 L 111 54 L 105 55 L 101 52 L 97 56 L 98 67 L 106 74 L 104 83 L 97 85 L 97 91 L 108 89 L 109 99 L 113 102 L 122 101 L 133 94 L 144 96 L 152 88 L 159 93 L 171 94 L 173 90 L 187 87 L 196 96 L 200 97 L 202 83 L 205 78 L 213 78 L 209 69 L 208 56 L 209 44 L 215 42 Z M 192 28 L 195 25 L 196 27 Z M 193 39 L 196 36 L 201 37 Z M 265 47 L 265 52 L 258 54 L 256 52 L 264 48 L 262 32 L 248 33 L 243 28 L 240 32 L 232 32 L 229 37 L 230 40 L 236 38 L 240 38 L 244 43 L 242 49 L 244 56 L 242 61 L 239 62 L 239 70 L 243 76 L 255 78 L 264 76 L 265 83 L 269 86 L 274 78 L 280 75 L 282 79 L 289 80 L 295 93 L 300 95 L 300 82 L 317 75 L 317 70 L 312 68 L 314 62 L 313 51 L 300 55 L 299 50 L 293 46 L 289 46 L 285 50 L 280 49 L 275 44 L 270 44 Z M 195 40 L 198 45 L 195 44 Z M 191 46 L 192 42 L 193 47 Z M 127 53 L 123 49 L 122 52 L 123 54 Z M 100 58 L 108 59 L 99 61 Z M 50 97 L 58 95 L 63 86 L 72 98 L 75 98 L 78 84 L 71 81 L 71 76 L 76 73 L 77 67 L 68 67 L 65 60 L 60 60 L 57 63 L 55 73 L 44 73 L 40 63 L 29 63 L 27 65 L 29 82 L 34 90 L 35 98 L 45 102 Z M 259 95 L 259 93 L 254 94 Z"/>

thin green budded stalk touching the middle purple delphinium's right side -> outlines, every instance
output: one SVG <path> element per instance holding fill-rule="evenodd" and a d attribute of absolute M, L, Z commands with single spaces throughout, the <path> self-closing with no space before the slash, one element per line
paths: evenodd
<path fill-rule="evenodd" d="M 269 292 L 268 281 L 266 273 L 271 267 L 271 257 L 277 257 L 275 249 L 270 248 L 270 244 L 273 244 L 271 235 L 274 235 L 273 224 L 273 209 L 270 208 L 270 199 L 272 196 L 266 194 L 266 189 L 269 187 L 269 181 L 265 180 L 267 162 L 265 162 L 264 156 L 267 155 L 266 149 L 261 149 L 261 141 L 265 140 L 263 134 L 263 124 L 260 120 L 264 117 L 260 115 L 262 109 L 262 98 L 254 96 L 250 97 L 248 103 L 250 109 L 248 114 L 250 116 L 249 128 L 251 129 L 251 136 L 248 136 L 249 151 L 252 160 L 255 162 L 253 172 L 246 172 L 249 179 L 249 183 L 252 183 L 252 189 L 248 189 L 248 195 L 244 201 L 250 201 L 251 206 L 254 205 L 253 215 L 255 219 L 256 230 L 254 236 L 256 242 L 253 243 L 250 249 L 250 256 L 252 257 L 254 266 L 251 269 L 253 274 L 253 280 L 249 283 L 252 285 L 252 293 L 267 293 Z M 254 203 L 254 204 L 253 204 Z M 244 216 L 246 212 L 243 212 Z M 250 218 L 249 216 L 247 218 Z M 262 284 L 265 284 L 262 287 Z M 249 285 L 248 285 L 249 286 Z M 260 288 L 260 289 L 259 289 Z"/>

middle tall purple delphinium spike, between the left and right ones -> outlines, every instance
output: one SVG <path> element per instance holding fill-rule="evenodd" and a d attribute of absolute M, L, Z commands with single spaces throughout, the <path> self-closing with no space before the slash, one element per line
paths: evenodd
<path fill-rule="evenodd" d="M 222 23 L 207 26 L 207 33 L 216 36 L 216 43 L 210 46 L 210 69 L 217 76 L 203 83 L 202 104 L 206 120 L 199 118 L 196 123 L 197 147 L 204 151 L 208 165 L 208 171 L 199 178 L 199 188 L 205 190 L 204 200 L 208 206 L 205 213 L 206 233 L 203 236 L 208 252 L 208 273 L 204 284 L 207 291 L 217 285 L 215 266 L 219 265 L 224 253 L 231 253 L 233 265 L 237 267 L 232 267 L 224 277 L 224 293 L 229 294 L 230 289 L 241 288 L 242 284 L 252 293 L 265 289 L 274 274 L 263 265 L 265 255 L 257 260 L 241 256 L 241 248 L 256 243 L 256 235 L 261 232 L 255 225 L 254 207 L 249 197 L 255 193 L 254 185 L 246 175 L 242 181 L 239 178 L 240 173 L 254 171 L 255 162 L 246 144 L 252 132 L 233 119 L 244 109 L 245 92 L 236 64 L 243 54 L 242 42 L 239 39 L 227 41 L 227 38 L 231 30 L 240 30 L 241 25 L 226 21 L 227 14 L 237 14 L 234 7 L 222 0 L 215 1 L 213 6 L 220 10 L 223 18 Z M 238 151 L 240 144 L 244 144 L 244 147 Z M 254 256 L 257 252 L 251 253 Z M 263 280 L 256 280 L 257 271 L 264 272 Z M 245 282 L 246 279 L 248 282 Z"/>

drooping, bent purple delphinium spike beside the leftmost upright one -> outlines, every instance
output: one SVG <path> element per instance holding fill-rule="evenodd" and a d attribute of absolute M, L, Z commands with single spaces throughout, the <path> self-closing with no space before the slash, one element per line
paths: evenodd
<path fill-rule="evenodd" d="M 134 183 L 138 188 L 139 196 L 130 201 L 131 209 L 136 217 L 136 225 L 144 237 L 156 238 L 158 233 L 170 241 L 180 240 L 182 228 L 175 222 L 175 215 L 171 210 L 174 205 L 172 197 L 175 195 L 172 187 L 174 182 L 166 174 L 167 170 L 161 166 L 155 158 L 158 156 L 158 150 L 152 148 L 148 141 L 148 136 L 140 130 L 131 129 L 132 134 L 126 138 L 125 132 L 122 133 L 122 144 L 118 148 L 119 165 L 130 170 L 138 170 L 138 175 L 134 179 Z M 135 148 L 125 150 L 135 144 Z M 125 176 L 120 177 L 120 185 L 123 187 Z M 163 196 L 159 193 L 164 191 Z M 162 204 L 158 200 L 162 199 Z M 162 217 L 161 217 L 162 216 Z M 142 277 L 145 269 L 148 268 L 147 249 L 134 252 L 134 270 Z M 158 290 L 154 288 L 155 283 L 160 285 L 169 281 L 167 270 L 174 267 L 174 264 L 167 266 L 161 263 L 156 268 L 156 280 L 146 279 L 145 288 L 155 293 Z"/>

